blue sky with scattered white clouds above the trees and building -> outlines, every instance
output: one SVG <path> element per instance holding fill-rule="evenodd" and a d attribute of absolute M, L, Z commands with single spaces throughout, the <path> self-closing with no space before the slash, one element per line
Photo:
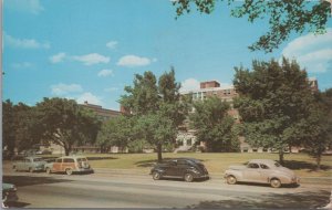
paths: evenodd
<path fill-rule="evenodd" d="M 297 59 L 320 90 L 332 87 L 332 23 L 328 33 L 293 34 L 273 53 L 248 46 L 268 30 L 229 15 L 193 11 L 175 20 L 169 0 L 4 0 L 2 98 L 34 105 L 43 97 L 87 101 L 120 109 L 134 74 L 170 66 L 183 90 L 217 80 L 231 84 L 234 66 L 253 59 Z"/>

